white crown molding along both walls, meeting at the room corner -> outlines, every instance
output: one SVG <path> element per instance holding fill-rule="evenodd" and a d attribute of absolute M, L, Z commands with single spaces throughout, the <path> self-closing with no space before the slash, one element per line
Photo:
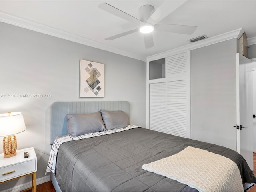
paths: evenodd
<path fill-rule="evenodd" d="M 237 29 L 237 30 L 233 30 L 224 34 L 220 34 L 218 36 L 214 36 L 208 39 L 204 39 L 202 41 L 198 41 L 198 42 L 194 42 L 185 46 L 181 46 L 179 48 L 175 48 L 172 50 L 168 50 L 166 52 L 162 52 L 153 56 L 148 56 L 148 57 L 144 57 L 138 54 L 133 54 L 131 52 L 127 52 L 112 46 L 108 46 L 106 44 L 82 37 L 82 36 L 78 36 L 76 34 L 72 34 L 72 33 L 68 33 L 66 31 L 63 30 L 58 30 L 56 28 L 52 28 L 50 26 L 46 26 L 43 24 L 39 24 L 36 22 L 33 22 L 31 20 L 26 20 L 17 16 L 13 16 L 11 14 L 7 14 L 4 12 L 0 12 L 0 22 L 4 22 L 4 23 L 8 23 L 8 24 L 12 24 L 15 26 L 19 26 L 22 28 L 26 28 L 28 30 L 33 30 L 36 32 L 40 32 L 43 34 L 48 34 L 50 36 L 54 36 L 57 38 L 62 38 L 65 40 L 69 40 L 72 42 L 76 42 L 79 44 L 83 44 L 86 46 L 90 46 L 90 47 L 94 47 L 94 48 L 98 48 L 100 50 L 105 50 L 105 51 L 109 51 L 112 53 L 116 53 L 122 56 L 126 56 L 126 57 L 130 57 L 130 58 L 134 58 L 137 60 L 142 60 L 142 61 L 152 61 L 152 60 L 156 60 L 159 58 L 164 58 L 173 54 L 178 54 L 180 52 L 185 52 L 188 50 L 193 50 L 196 48 L 200 48 L 203 46 L 208 46 L 211 44 L 215 44 L 218 42 L 222 42 L 225 40 L 230 40 L 232 38 L 239 38 L 242 33 L 244 32 L 244 30 L 242 28 Z M 256 37 L 254 38 L 248 38 L 248 45 L 252 45 L 252 44 L 256 44 Z"/>

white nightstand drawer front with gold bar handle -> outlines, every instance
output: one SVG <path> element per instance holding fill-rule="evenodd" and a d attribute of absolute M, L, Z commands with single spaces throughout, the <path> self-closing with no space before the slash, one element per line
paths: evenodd
<path fill-rule="evenodd" d="M 0 182 L 36 172 L 36 160 L 30 160 L 0 168 Z"/>

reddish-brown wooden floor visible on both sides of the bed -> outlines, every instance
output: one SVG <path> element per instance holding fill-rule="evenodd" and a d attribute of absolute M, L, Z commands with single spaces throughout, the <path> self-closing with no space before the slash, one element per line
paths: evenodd
<path fill-rule="evenodd" d="M 254 167 L 254 170 L 252 172 L 256 176 L 256 153 L 253 154 L 253 167 Z M 48 181 L 46 183 L 37 185 L 36 186 L 36 191 L 37 192 L 55 192 L 51 181 Z M 32 192 L 32 191 L 29 191 L 29 192 Z M 252 187 L 249 190 L 249 192 L 256 192 L 256 186 Z"/>

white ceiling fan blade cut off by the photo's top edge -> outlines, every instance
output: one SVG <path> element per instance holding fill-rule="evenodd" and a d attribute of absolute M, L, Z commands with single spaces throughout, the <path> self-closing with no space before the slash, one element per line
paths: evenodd
<path fill-rule="evenodd" d="M 176 10 L 188 0 L 166 0 L 163 4 L 148 18 L 147 23 L 155 25 L 163 18 L 168 16 L 171 12 Z"/>

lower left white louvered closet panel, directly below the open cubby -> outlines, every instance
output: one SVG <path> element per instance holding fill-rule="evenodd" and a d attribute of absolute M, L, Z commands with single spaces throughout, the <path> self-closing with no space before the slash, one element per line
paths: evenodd
<path fill-rule="evenodd" d="M 166 83 L 150 84 L 150 129 L 166 132 Z"/>

